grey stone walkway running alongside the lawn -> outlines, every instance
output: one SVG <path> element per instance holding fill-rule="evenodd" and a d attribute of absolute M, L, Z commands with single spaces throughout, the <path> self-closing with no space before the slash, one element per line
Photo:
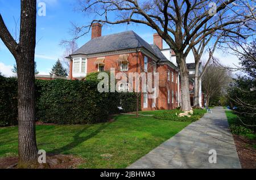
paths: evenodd
<path fill-rule="evenodd" d="M 217 107 L 197 122 L 185 127 L 128 168 L 241 168 L 225 110 Z M 210 164 L 209 151 L 217 152 Z"/>

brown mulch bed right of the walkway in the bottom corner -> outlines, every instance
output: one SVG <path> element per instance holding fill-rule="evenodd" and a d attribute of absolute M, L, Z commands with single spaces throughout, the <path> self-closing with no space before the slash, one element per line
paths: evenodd
<path fill-rule="evenodd" d="M 233 135 L 243 169 L 256 169 L 256 149 L 252 146 L 256 140 L 246 139 L 243 136 Z"/>

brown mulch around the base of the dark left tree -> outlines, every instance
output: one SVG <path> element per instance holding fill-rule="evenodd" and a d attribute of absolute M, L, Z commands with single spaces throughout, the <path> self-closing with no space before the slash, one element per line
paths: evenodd
<path fill-rule="evenodd" d="M 73 155 L 48 155 L 46 162 L 46 164 L 38 165 L 36 169 L 76 169 L 85 161 Z M 16 169 L 17 164 L 18 157 L 0 158 L 0 169 Z"/>

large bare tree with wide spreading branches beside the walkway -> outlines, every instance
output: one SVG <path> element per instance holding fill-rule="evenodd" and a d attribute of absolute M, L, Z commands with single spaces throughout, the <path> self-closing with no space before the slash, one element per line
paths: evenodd
<path fill-rule="evenodd" d="M 215 6 L 209 7 L 209 1 L 206 0 L 80 0 L 82 12 L 96 16 L 89 25 L 75 27 L 75 39 L 88 33 L 94 22 L 139 23 L 155 29 L 176 53 L 181 76 L 181 109 L 191 110 L 187 55 L 193 46 L 197 45 L 204 37 L 220 29 L 221 31 L 225 29 L 232 35 L 240 35 L 236 29 L 239 27 L 238 24 L 245 21 L 246 17 L 232 11 L 233 8 L 236 8 L 233 5 L 235 1 L 217 0 L 213 1 Z M 207 28 L 204 28 L 206 23 L 208 24 Z"/>

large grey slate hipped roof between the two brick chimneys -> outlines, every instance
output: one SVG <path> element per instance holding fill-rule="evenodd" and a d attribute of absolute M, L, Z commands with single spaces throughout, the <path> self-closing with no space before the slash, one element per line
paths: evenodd
<path fill-rule="evenodd" d="M 88 41 L 81 48 L 76 50 L 74 54 L 96 54 L 112 52 L 115 50 L 125 50 L 133 48 L 146 48 L 152 54 L 155 54 L 150 44 L 143 40 L 137 33 L 133 31 L 125 31 L 115 33 L 113 35 L 101 36 Z"/>

